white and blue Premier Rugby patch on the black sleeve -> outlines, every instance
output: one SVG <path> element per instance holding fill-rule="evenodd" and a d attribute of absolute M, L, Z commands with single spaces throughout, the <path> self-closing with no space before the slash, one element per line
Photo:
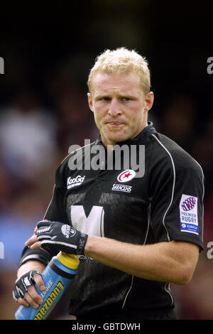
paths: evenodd
<path fill-rule="evenodd" d="M 179 208 L 181 232 L 198 235 L 197 197 L 182 194 Z"/>

